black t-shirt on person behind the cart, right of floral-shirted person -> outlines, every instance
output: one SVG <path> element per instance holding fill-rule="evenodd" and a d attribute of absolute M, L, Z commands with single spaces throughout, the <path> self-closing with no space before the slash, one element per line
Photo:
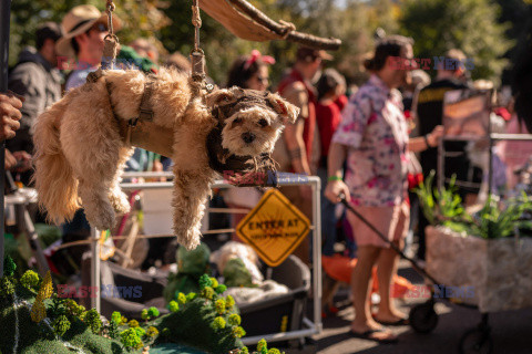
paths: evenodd
<path fill-rule="evenodd" d="M 448 91 L 468 88 L 458 80 L 439 80 L 422 88 L 418 97 L 418 125 L 419 134 L 427 135 L 437 126 L 442 124 L 443 95 Z M 447 152 L 463 152 L 467 143 L 446 142 Z M 420 154 L 420 163 L 423 174 L 427 176 L 432 169 L 438 170 L 438 148 L 428 148 Z M 457 157 L 446 158 L 446 177 L 457 175 L 458 180 L 471 180 L 469 173 L 469 159 L 466 154 Z"/>

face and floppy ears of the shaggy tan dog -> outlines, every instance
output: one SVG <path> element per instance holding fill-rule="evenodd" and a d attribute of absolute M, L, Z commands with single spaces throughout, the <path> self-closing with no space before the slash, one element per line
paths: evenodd
<path fill-rule="evenodd" d="M 285 122 L 295 123 L 299 114 L 298 107 L 269 92 L 232 87 L 206 100 L 224 119 L 222 147 L 237 156 L 272 153 Z"/>

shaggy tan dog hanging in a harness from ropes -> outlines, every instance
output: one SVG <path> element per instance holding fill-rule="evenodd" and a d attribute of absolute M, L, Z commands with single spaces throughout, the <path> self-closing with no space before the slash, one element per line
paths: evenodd
<path fill-rule="evenodd" d="M 154 79 L 134 70 L 108 71 L 70 91 L 35 125 L 35 188 L 50 220 L 70 220 L 82 204 L 89 222 L 105 230 L 114 226 L 115 211 L 129 211 L 119 184 L 132 147 L 119 121 L 139 116 L 146 80 L 153 80 L 153 122 L 174 135 L 174 232 L 193 249 L 216 176 L 206 148 L 209 133 L 219 129 L 227 156 L 256 157 L 273 150 L 284 122 L 293 123 L 298 108 L 276 94 L 238 87 L 216 90 L 204 102 L 192 95 L 186 75 L 170 69 Z"/>

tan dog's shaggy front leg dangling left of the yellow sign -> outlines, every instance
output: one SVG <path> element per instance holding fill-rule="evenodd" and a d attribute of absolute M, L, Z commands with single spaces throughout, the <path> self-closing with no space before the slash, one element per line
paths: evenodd
<path fill-rule="evenodd" d="M 214 176 L 205 170 L 178 170 L 177 167 L 174 175 L 174 233 L 177 242 L 193 250 L 200 244 L 201 221 Z"/>

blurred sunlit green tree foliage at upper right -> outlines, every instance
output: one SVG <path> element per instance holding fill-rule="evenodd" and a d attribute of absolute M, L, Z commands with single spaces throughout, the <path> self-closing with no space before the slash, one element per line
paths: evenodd
<path fill-rule="evenodd" d="M 508 24 L 497 22 L 500 7 L 491 0 L 405 0 L 401 29 L 416 40 L 420 58 L 442 55 L 451 48 L 474 59 L 473 79 L 493 80 L 495 86 L 512 46 Z"/>

